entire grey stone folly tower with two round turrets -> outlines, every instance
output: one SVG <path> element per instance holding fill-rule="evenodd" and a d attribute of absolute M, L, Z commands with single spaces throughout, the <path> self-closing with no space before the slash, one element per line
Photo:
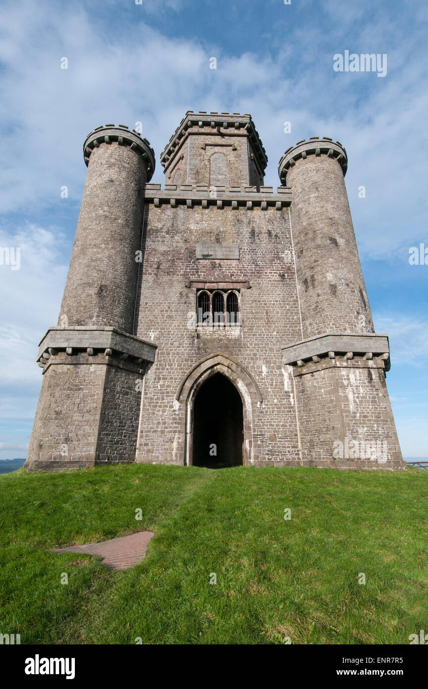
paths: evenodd
<path fill-rule="evenodd" d="M 249 114 L 189 111 L 161 154 L 124 125 L 88 175 L 29 469 L 112 462 L 405 469 L 332 139 L 281 158 Z"/>

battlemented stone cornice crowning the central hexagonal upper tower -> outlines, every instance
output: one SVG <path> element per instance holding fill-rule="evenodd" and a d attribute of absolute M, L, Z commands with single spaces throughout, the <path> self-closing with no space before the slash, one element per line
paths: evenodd
<path fill-rule="evenodd" d="M 193 112 L 193 110 L 187 110 L 181 123 L 176 128 L 170 141 L 168 141 L 161 153 L 161 165 L 163 165 L 163 167 L 167 165 L 170 158 L 176 154 L 176 151 L 179 150 L 184 141 L 186 141 L 191 133 L 189 131 L 191 127 L 197 127 L 198 129 L 195 133 L 198 134 L 207 134 L 209 131 L 216 130 L 216 132 L 213 133 L 218 134 L 221 132 L 224 136 L 236 136 L 240 130 L 245 130 L 246 135 L 252 143 L 258 166 L 262 170 L 265 169 L 267 165 L 266 151 L 261 143 L 261 138 L 258 135 L 256 127 L 254 127 L 254 122 L 250 114 L 245 113 L 241 115 L 238 112 Z"/>

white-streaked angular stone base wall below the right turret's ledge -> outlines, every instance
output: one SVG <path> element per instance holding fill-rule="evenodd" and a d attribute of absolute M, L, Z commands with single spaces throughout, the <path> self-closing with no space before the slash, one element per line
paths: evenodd
<path fill-rule="evenodd" d="M 383 361 L 343 357 L 294 374 L 303 464 L 404 469 Z"/>

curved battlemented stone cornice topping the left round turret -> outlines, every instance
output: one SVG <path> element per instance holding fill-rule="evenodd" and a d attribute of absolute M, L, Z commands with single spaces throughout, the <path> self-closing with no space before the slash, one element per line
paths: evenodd
<path fill-rule="evenodd" d="M 126 125 L 105 125 L 105 127 L 95 127 L 85 138 L 83 144 L 83 156 L 88 165 L 90 154 L 94 148 L 102 143 L 112 143 L 117 141 L 121 146 L 129 146 L 133 151 L 138 152 L 147 161 L 147 181 L 150 181 L 154 173 L 154 150 L 150 146 L 147 138 L 142 138 L 136 130 L 130 130 Z"/>

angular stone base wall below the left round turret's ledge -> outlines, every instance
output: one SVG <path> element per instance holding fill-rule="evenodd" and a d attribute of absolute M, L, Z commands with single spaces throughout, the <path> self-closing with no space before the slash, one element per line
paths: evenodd
<path fill-rule="evenodd" d="M 52 357 L 26 466 L 34 471 L 135 462 L 144 373 L 102 353 Z"/>

